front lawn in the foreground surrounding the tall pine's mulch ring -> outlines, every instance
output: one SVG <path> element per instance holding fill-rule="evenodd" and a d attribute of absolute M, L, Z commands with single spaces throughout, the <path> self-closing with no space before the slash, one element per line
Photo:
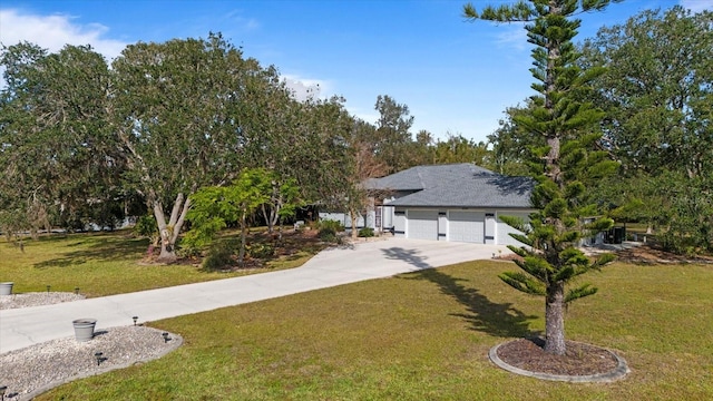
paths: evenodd
<path fill-rule="evenodd" d="M 632 373 L 608 384 L 488 361 L 492 345 L 544 330 L 543 301 L 497 278 L 512 268 L 465 263 L 155 322 L 184 345 L 38 399 L 713 399 L 713 266 L 619 263 L 586 277 L 600 292 L 569 307 L 567 338 L 627 360 Z"/>

